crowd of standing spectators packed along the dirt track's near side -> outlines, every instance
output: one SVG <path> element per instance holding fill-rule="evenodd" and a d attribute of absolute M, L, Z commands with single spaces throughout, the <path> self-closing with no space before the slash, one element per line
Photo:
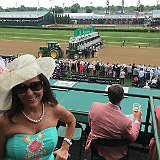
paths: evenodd
<path fill-rule="evenodd" d="M 66 71 L 79 75 L 115 78 L 119 79 L 120 84 L 124 84 L 125 79 L 128 78 L 133 80 L 132 86 L 134 87 L 144 87 L 147 84 L 150 88 L 160 88 L 160 68 L 157 66 L 71 59 L 57 60 L 56 76 Z"/>

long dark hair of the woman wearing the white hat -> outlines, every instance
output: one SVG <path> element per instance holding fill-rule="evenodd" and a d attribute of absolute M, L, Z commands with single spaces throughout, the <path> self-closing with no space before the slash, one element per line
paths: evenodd
<path fill-rule="evenodd" d="M 41 73 L 38 75 L 38 78 L 43 82 L 43 97 L 42 102 L 51 102 L 53 106 L 58 104 L 58 101 L 55 98 L 54 93 L 50 89 L 50 84 L 48 79 Z M 16 86 L 12 88 L 12 102 L 11 102 L 11 108 L 8 109 L 5 113 L 8 115 L 8 119 L 11 123 L 13 123 L 12 118 L 15 115 L 19 115 L 21 113 L 21 110 L 23 108 L 23 103 L 20 101 L 17 92 L 16 92 Z"/>

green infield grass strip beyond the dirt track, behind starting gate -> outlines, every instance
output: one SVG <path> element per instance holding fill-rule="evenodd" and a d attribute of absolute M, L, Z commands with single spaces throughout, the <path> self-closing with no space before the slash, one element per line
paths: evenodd
<path fill-rule="evenodd" d="M 69 30 L 0 28 L 1 40 L 68 43 L 73 34 L 74 32 Z M 100 32 L 100 36 L 104 40 L 105 45 L 121 46 L 122 41 L 125 40 L 125 46 L 160 48 L 160 33 Z"/>

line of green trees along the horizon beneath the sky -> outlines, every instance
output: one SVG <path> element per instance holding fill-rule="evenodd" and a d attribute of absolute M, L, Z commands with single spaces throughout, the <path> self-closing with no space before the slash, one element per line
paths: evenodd
<path fill-rule="evenodd" d="M 13 12 L 13 11 L 44 11 L 47 10 L 48 8 L 44 8 L 44 7 L 25 7 L 24 5 L 21 5 L 20 7 L 12 7 L 12 8 L 2 8 L 0 6 L 0 12 Z M 78 3 L 73 4 L 70 7 L 59 7 L 59 6 L 55 6 L 55 8 L 50 7 L 49 11 L 53 11 L 55 13 L 106 13 L 107 8 L 106 7 L 102 7 L 102 6 L 98 6 L 98 7 L 94 7 L 94 6 L 86 6 L 86 7 L 81 7 Z M 122 10 L 122 6 L 109 6 L 109 10 L 110 10 L 110 14 L 114 14 L 114 13 L 121 13 Z M 129 7 L 124 7 L 124 11 L 125 13 L 133 13 L 133 12 L 150 12 L 152 10 L 160 10 L 160 4 L 159 5 L 154 5 L 154 6 L 144 6 L 143 4 L 141 4 L 139 7 L 137 6 L 129 6 Z"/>

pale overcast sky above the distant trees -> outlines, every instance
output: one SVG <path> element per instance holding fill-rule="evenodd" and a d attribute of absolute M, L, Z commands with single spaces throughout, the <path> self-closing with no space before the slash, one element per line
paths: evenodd
<path fill-rule="evenodd" d="M 0 6 L 3 8 L 7 7 L 20 7 L 24 5 L 26 7 L 40 7 L 50 8 L 51 6 L 71 6 L 74 3 L 78 3 L 81 7 L 85 6 L 106 6 L 107 0 L 0 0 Z M 125 6 L 137 6 L 138 0 L 124 0 Z M 110 5 L 121 5 L 122 0 L 110 0 Z M 157 0 L 141 0 L 143 5 L 157 5 Z M 160 0 L 159 0 L 160 4 Z"/>

